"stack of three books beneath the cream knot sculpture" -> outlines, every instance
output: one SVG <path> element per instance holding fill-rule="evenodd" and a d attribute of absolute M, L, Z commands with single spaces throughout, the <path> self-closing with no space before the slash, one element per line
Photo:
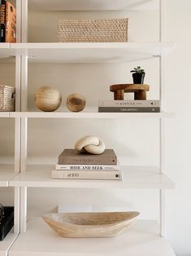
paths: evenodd
<path fill-rule="evenodd" d="M 52 179 L 121 180 L 122 170 L 113 149 L 106 149 L 101 155 L 64 149 L 52 170 Z"/>

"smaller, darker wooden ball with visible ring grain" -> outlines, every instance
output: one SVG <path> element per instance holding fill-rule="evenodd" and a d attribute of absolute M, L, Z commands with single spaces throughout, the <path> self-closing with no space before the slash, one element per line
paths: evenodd
<path fill-rule="evenodd" d="M 67 97 L 67 108 L 72 112 L 80 112 L 85 108 L 85 97 L 72 94 Z"/>

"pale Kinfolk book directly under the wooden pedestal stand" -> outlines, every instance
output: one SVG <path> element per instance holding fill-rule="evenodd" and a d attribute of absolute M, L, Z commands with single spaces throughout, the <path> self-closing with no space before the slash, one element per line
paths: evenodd
<path fill-rule="evenodd" d="M 99 107 L 160 107 L 160 100 L 99 100 Z"/>

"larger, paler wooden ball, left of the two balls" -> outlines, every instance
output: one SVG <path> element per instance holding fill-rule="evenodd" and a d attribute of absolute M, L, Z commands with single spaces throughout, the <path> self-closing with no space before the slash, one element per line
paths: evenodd
<path fill-rule="evenodd" d="M 50 86 L 43 86 L 36 91 L 34 101 L 37 108 L 45 112 L 52 112 L 59 108 L 62 96 L 59 90 Z"/>

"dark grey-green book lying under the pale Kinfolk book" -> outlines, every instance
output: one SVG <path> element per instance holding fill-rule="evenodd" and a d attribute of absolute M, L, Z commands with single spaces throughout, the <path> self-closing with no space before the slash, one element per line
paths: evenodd
<path fill-rule="evenodd" d="M 159 113 L 156 107 L 98 107 L 100 113 Z"/>

